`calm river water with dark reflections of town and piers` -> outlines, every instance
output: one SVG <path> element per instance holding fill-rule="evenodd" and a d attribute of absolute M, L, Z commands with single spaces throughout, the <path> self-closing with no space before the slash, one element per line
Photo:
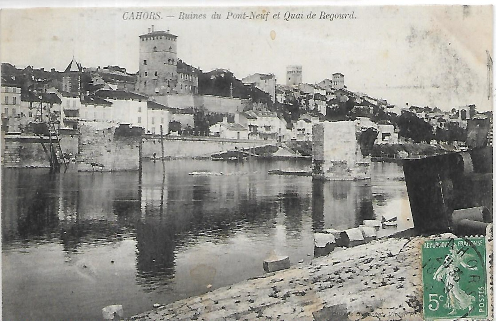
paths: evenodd
<path fill-rule="evenodd" d="M 3 320 L 130 316 L 263 274 L 271 254 L 313 256 L 313 232 L 398 216 L 412 227 L 400 165 L 371 180 L 268 175 L 310 161 L 152 161 L 143 172 L 2 169 Z M 246 173 L 191 176 L 188 172 Z"/>

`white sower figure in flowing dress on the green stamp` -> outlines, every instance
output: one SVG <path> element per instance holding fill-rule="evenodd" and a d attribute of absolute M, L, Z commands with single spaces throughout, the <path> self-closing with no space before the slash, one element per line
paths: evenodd
<path fill-rule="evenodd" d="M 452 315 L 456 313 L 456 310 L 465 310 L 467 308 L 468 311 L 472 310 L 472 303 L 475 301 L 474 296 L 468 295 L 460 288 L 458 281 L 462 271 L 459 266 L 467 269 L 477 268 L 470 268 L 463 261 L 463 255 L 456 251 L 454 244 L 451 244 L 449 252 L 450 254 L 446 255 L 443 263 L 434 273 L 434 279 L 444 283 L 444 291 L 446 292 L 444 308 L 451 309 L 448 314 Z"/>

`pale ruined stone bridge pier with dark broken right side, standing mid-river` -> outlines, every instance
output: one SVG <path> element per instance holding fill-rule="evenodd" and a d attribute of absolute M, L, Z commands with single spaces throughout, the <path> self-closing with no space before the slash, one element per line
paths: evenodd
<path fill-rule="evenodd" d="M 377 137 L 370 118 L 324 121 L 312 127 L 312 177 L 324 180 L 366 179 Z"/>

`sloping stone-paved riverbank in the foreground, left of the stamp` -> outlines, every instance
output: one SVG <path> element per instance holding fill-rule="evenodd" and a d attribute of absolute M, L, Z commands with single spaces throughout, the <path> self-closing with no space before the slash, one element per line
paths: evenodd
<path fill-rule="evenodd" d="M 130 320 L 422 320 L 423 240 L 381 238 L 336 249 Z"/>

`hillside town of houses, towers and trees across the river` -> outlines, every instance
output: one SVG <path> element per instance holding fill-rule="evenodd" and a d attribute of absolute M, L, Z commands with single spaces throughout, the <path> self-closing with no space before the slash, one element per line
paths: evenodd
<path fill-rule="evenodd" d="M 154 26 L 139 35 L 135 73 L 117 65 L 83 67 L 75 57 L 63 71 L 2 63 L 2 132 L 32 135 L 33 124 L 50 119 L 62 134 L 77 132 L 78 121 L 113 121 L 146 134 L 159 134 L 162 127 L 171 136 L 311 141 L 312 125 L 320 121 L 370 117 L 379 130 L 376 144 L 464 147 L 470 119 L 492 121 L 491 111 L 480 113 L 475 105 L 390 105 L 349 90 L 340 72 L 304 83 L 301 65 L 287 66 L 285 84 L 273 73 L 240 80 L 229 69 L 204 72 L 178 57 L 178 38 Z"/>

